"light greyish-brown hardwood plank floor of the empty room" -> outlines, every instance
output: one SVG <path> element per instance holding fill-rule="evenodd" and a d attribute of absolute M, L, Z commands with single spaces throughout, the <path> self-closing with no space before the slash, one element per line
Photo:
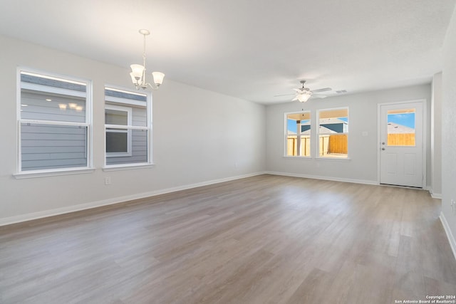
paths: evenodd
<path fill-rule="evenodd" d="M 1 303 L 395 303 L 456 294 L 421 190 L 261 175 L 0 228 Z"/>

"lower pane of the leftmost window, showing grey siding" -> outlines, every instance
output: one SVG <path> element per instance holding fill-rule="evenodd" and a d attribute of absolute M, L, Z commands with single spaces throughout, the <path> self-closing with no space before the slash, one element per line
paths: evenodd
<path fill-rule="evenodd" d="M 87 167 L 87 127 L 21 124 L 22 171 Z"/>

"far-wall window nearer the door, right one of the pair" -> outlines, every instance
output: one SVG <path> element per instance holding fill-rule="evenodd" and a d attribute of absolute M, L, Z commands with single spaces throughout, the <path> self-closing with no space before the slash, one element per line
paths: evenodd
<path fill-rule="evenodd" d="M 318 111 L 318 156 L 348 157 L 348 108 Z"/>

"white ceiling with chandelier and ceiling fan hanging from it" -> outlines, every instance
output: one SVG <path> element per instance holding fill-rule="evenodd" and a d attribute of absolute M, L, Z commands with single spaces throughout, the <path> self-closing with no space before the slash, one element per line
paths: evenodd
<path fill-rule="evenodd" d="M 257 103 L 429 83 L 456 0 L 0 0 L 0 33 Z M 165 83 L 166 85 L 166 78 Z M 330 92 L 329 95 L 336 94 Z"/>

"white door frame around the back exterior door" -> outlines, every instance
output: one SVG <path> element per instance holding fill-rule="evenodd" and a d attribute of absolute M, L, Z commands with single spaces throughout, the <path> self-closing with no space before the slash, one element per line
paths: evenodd
<path fill-rule="evenodd" d="M 402 105 L 407 103 L 422 103 L 423 104 L 423 159 L 422 161 L 422 174 L 423 180 L 421 182 L 421 188 L 427 189 L 427 182 L 426 182 L 426 159 L 427 159 L 427 103 L 426 99 L 414 99 L 414 100 L 403 100 L 403 101 L 395 101 L 390 103 L 378 103 L 377 104 L 377 184 L 380 184 L 380 149 L 381 149 L 381 107 L 382 105 Z"/>

